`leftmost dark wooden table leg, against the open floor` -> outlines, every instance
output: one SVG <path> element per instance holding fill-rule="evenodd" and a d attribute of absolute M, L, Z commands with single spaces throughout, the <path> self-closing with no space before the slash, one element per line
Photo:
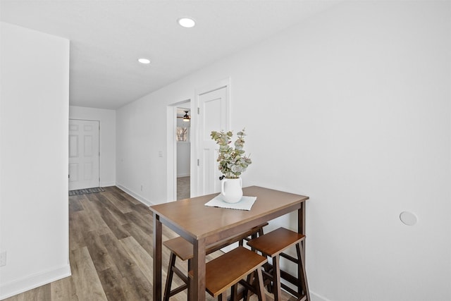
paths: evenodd
<path fill-rule="evenodd" d="M 161 301 L 161 259 L 163 226 L 154 213 L 154 301 Z"/>

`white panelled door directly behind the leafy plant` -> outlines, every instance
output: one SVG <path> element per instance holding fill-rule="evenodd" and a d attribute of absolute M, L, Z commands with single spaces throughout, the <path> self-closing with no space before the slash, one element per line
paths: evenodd
<path fill-rule="evenodd" d="M 229 130 L 228 86 L 198 95 L 199 99 L 199 147 L 197 195 L 219 192 L 221 182 L 216 159 L 218 145 L 211 140 L 212 130 Z"/>

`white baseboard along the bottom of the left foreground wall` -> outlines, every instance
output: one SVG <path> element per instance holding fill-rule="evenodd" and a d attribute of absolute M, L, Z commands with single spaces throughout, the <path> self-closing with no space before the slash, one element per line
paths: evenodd
<path fill-rule="evenodd" d="M 10 281 L 0 284 L 0 300 L 4 300 L 13 295 L 32 290 L 42 285 L 46 285 L 53 281 L 60 280 L 72 275 L 70 272 L 70 265 L 61 266 L 51 271 L 45 271 L 39 274 L 27 276 L 16 281 Z"/>

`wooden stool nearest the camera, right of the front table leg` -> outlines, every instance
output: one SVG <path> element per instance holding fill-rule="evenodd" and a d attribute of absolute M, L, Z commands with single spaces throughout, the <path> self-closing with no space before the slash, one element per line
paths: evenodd
<path fill-rule="evenodd" d="M 254 293 L 259 296 L 260 301 L 266 301 L 261 266 L 267 261 L 265 257 L 260 256 L 256 252 L 239 246 L 206 263 L 206 291 L 211 296 L 218 297 L 218 301 L 222 301 L 223 293 L 228 288 L 232 288 L 230 301 L 235 301 L 237 300 L 237 284 L 245 276 L 257 272 L 258 285 L 256 285 Z M 192 277 L 192 271 L 190 271 L 190 276 Z M 249 288 L 252 287 L 249 286 Z"/>

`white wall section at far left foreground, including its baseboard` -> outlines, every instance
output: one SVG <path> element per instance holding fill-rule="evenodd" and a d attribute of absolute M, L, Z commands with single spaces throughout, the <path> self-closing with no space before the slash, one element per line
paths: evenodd
<path fill-rule="evenodd" d="M 69 41 L 0 24 L 3 299 L 70 275 Z"/>

